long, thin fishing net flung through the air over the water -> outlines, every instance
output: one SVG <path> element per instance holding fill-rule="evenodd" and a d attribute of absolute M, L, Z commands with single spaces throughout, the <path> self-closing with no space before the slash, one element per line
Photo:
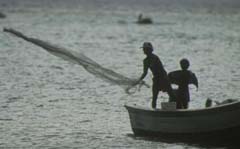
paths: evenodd
<path fill-rule="evenodd" d="M 111 84 L 121 86 L 127 94 L 134 93 L 137 87 L 140 89 L 142 85 L 149 87 L 147 84 L 145 84 L 144 81 L 140 82 L 139 86 L 136 86 L 136 84 L 133 85 L 134 82 L 136 82 L 136 79 L 125 77 L 117 72 L 114 72 L 113 70 L 104 68 L 89 57 L 85 56 L 83 53 L 77 53 L 75 51 L 68 50 L 39 39 L 29 38 L 23 35 L 21 32 L 13 29 L 4 29 L 4 31 L 12 33 L 17 37 L 23 38 L 28 42 L 40 46 L 57 57 L 63 58 L 64 60 L 67 60 L 71 63 L 81 65 L 86 71 L 93 74 L 94 76 L 103 79 Z"/>

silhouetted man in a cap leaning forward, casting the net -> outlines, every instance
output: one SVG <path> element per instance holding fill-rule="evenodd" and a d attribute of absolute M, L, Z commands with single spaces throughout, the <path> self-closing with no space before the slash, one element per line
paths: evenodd
<path fill-rule="evenodd" d="M 148 73 L 148 69 L 152 71 L 153 74 L 153 84 L 152 84 L 152 108 L 156 108 L 157 97 L 159 91 L 167 92 L 169 99 L 175 99 L 171 84 L 169 82 L 167 72 L 163 68 L 162 62 L 159 57 L 153 54 L 153 46 L 150 42 L 143 43 L 143 52 L 147 56 L 143 60 L 143 74 L 136 82 L 142 81 Z"/>

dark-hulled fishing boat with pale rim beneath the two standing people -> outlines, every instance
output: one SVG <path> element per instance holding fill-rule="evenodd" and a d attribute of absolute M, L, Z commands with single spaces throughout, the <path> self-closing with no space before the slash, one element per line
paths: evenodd
<path fill-rule="evenodd" d="M 240 138 L 240 102 L 202 109 L 163 110 L 125 105 L 136 136 L 178 141 Z"/>

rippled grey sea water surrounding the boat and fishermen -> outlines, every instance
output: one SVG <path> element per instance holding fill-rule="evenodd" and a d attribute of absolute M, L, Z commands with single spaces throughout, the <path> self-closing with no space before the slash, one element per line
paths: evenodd
<path fill-rule="evenodd" d="M 1 0 L 3 27 L 84 53 L 130 78 L 152 42 L 170 72 L 189 59 L 199 80 L 190 108 L 240 97 L 239 2 L 194 0 Z M 142 13 L 151 25 L 136 24 Z M 134 137 L 124 104 L 149 107 L 151 89 L 128 95 L 82 66 L 1 31 L 0 148 L 202 148 Z M 151 73 L 145 81 L 151 85 Z M 160 102 L 168 97 L 160 93 Z"/>

